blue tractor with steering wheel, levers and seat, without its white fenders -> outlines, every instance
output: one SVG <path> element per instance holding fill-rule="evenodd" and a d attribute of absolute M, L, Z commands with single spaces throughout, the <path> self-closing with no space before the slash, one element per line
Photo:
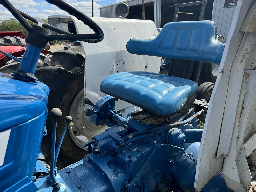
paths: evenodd
<path fill-rule="evenodd" d="M 19 69 L 12 74 L 0 73 L 0 190 L 199 191 L 194 181 L 203 129 L 199 129 L 197 116 L 205 114 L 209 104 L 195 97 L 202 62 L 221 62 L 224 44 L 216 40 L 216 24 L 213 21 L 168 23 L 155 39 L 128 41 L 127 50 L 132 54 L 193 61 L 191 76 L 132 71 L 106 77 L 100 89 L 108 95 L 97 103 L 85 99 L 93 109 L 87 108 L 84 113 L 92 116 L 93 124 L 106 124 L 109 128 L 86 143 L 88 155 L 59 171 L 56 162 L 72 117 L 66 116 L 56 148 L 56 124 L 62 113 L 60 109 L 52 109 L 50 174 L 43 176 L 36 173 L 45 169 L 37 159 L 48 114 L 49 87 L 34 76 L 41 49 L 50 40 L 97 43 L 104 38 L 101 28 L 72 5 L 63 0 L 47 1 L 74 15 L 94 33 L 70 34 L 48 24 L 44 28 L 29 25 L 8 0 L 0 0 L 28 30 L 28 45 Z M 45 28 L 58 35 L 51 35 Z M 196 40 L 196 36 L 202 38 Z M 117 100 L 139 108 L 124 117 L 115 110 Z M 217 172 L 200 190 L 232 191 L 229 188 L 222 172 Z"/>

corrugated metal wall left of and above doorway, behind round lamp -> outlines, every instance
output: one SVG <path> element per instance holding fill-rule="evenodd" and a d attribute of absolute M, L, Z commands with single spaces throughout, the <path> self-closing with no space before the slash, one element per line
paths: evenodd
<path fill-rule="evenodd" d="M 154 0 L 144 0 L 145 3 L 151 2 Z M 124 1 L 129 7 L 133 5 L 138 5 L 142 3 L 142 0 L 130 0 Z M 117 18 L 115 14 L 115 7 L 117 4 L 112 4 L 104 7 L 100 7 L 100 17 L 108 17 L 108 18 Z"/>

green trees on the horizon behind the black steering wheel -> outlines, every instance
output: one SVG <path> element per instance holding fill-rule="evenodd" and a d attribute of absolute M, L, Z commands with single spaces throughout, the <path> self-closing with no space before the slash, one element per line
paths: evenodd
<path fill-rule="evenodd" d="M 40 20 L 47 22 L 46 19 L 41 18 Z M 28 23 L 31 25 L 36 25 L 34 22 L 27 20 Z M 1 20 L 0 19 L 0 31 L 20 31 L 23 33 L 24 36 L 27 36 L 27 30 L 20 24 L 20 22 L 15 18 L 10 18 L 8 20 Z"/>

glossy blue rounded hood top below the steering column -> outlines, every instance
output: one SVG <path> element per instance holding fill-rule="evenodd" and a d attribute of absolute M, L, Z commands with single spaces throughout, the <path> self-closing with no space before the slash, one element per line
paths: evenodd
<path fill-rule="evenodd" d="M 27 122 L 46 110 L 46 84 L 19 81 L 5 73 L 0 73 L 0 84 L 0 131 Z"/>

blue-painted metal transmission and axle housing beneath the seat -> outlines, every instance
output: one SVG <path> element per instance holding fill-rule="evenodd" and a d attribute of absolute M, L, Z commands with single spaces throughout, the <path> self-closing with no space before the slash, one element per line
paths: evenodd
<path fill-rule="evenodd" d="M 129 118 L 128 122 L 132 120 Z M 118 145 L 118 138 L 127 135 L 131 127 L 110 127 L 107 131 L 93 138 L 100 154 L 90 153 L 84 156 L 83 163 L 77 162 L 58 172 L 60 182 L 69 191 L 194 191 L 196 161 L 200 143 L 184 144 L 185 151 L 168 144 L 168 131 L 148 135 L 127 145 L 120 144 L 121 150 L 115 152 L 113 145 Z M 136 124 L 134 124 L 136 126 Z M 180 133 L 191 128 L 189 125 L 177 127 Z M 190 129 L 190 132 L 198 129 Z M 184 133 L 185 134 L 185 133 Z M 188 133 L 188 139 L 193 134 Z M 120 141 L 120 140 L 119 140 Z M 71 169 L 72 168 L 72 169 Z M 35 182 L 39 191 L 51 191 L 51 186 L 44 178 Z M 167 185 L 166 185 L 167 184 Z M 181 189 L 181 190 L 180 190 Z M 203 189 L 206 191 L 228 191 L 223 177 L 215 176 Z"/>

